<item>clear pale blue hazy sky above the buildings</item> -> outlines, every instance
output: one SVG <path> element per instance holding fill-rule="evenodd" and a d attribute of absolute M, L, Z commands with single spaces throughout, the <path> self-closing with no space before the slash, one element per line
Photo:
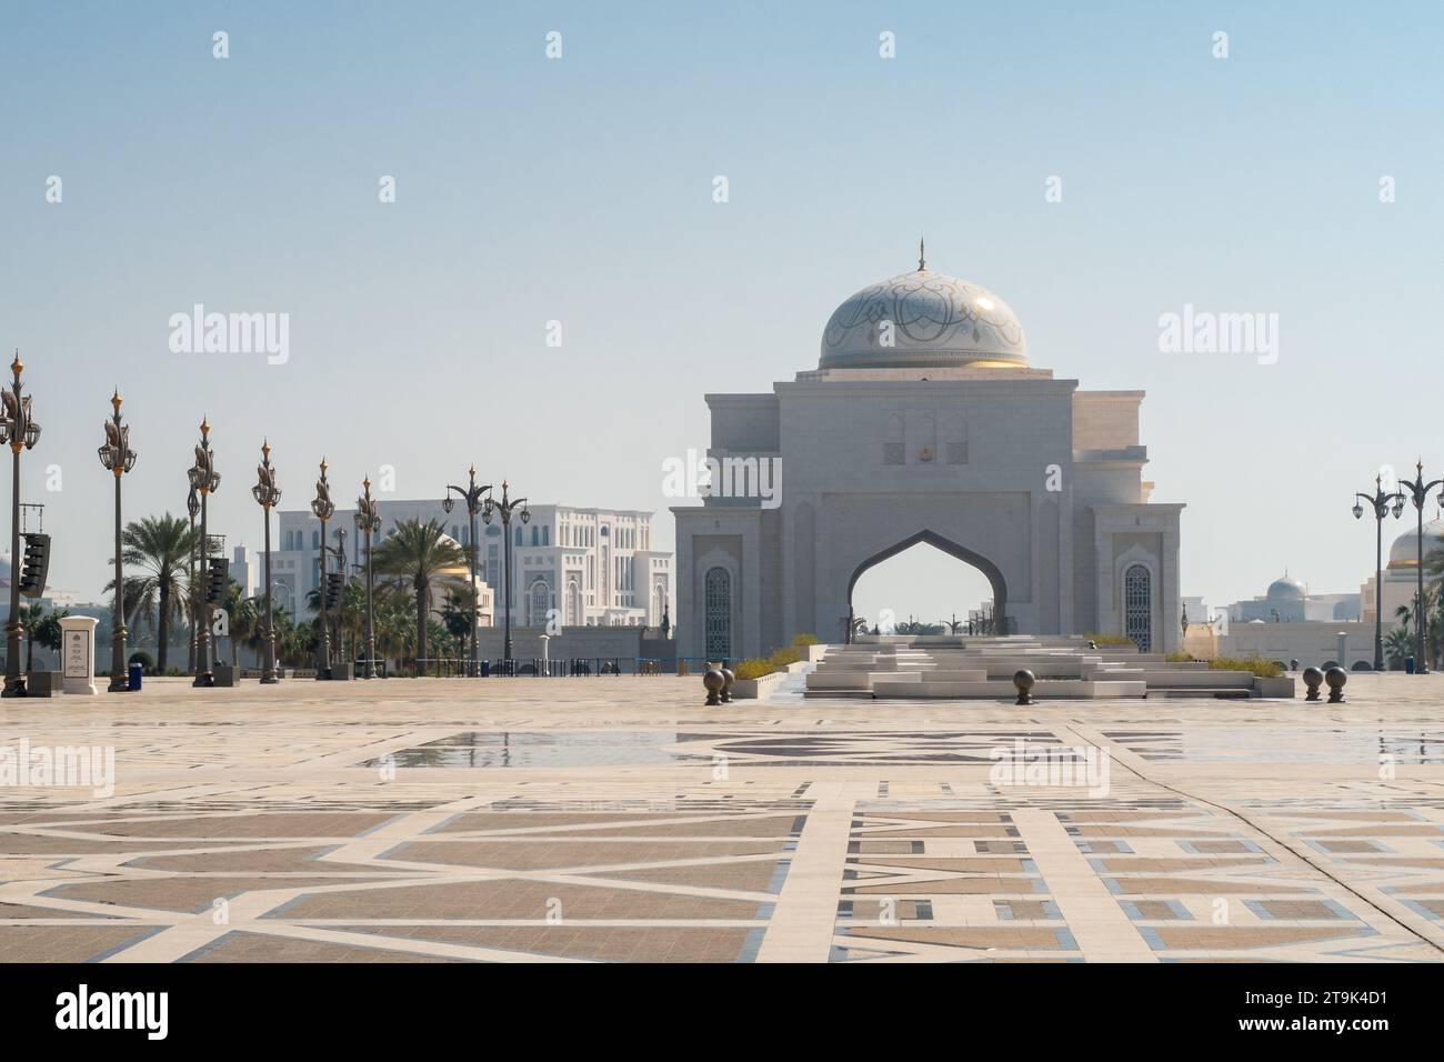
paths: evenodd
<path fill-rule="evenodd" d="M 475 461 L 537 501 L 664 510 L 703 392 L 813 367 L 836 303 L 926 233 L 931 267 L 1012 305 L 1032 364 L 1148 390 L 1184 594 L 1285 565 L 1356 590 L 1353 491 L 1419 455 L 1444 474 L 1444 16 L 1162 7 L 9 0 L 0 345 L 45 426 L 25 498 L 52 585 L 108 578 L 114 383 L 127 516 L 183 511 L 205 412 L 228 543 L 260 545 L 263 435 L 284 507 L 325 454 L 344 500 L 381 464 L 414 497 Z M 289 360 L 172 353 L 195 303 L 289 314 Z M 1161 354 L 1186 303 L 1278 314 L 1278 363 Z M 902 611 L 947 605 L 907 578 Z"/>

